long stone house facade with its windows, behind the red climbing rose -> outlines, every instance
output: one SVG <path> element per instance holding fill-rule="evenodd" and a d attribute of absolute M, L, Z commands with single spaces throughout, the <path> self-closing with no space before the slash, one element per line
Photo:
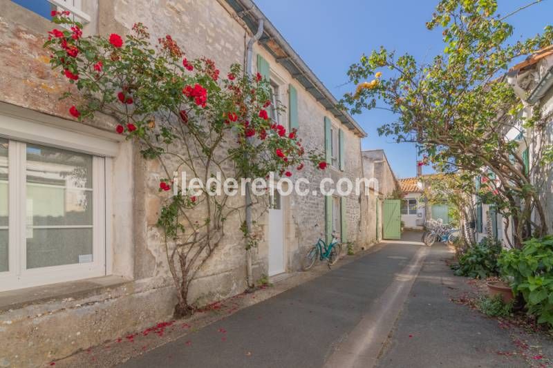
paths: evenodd
<path fill-rule="evenodd" d="M 213 59 L 222 75 L 231 64 L 245 63 L 245 45 L 263 19 L 265 32 L 254 45 L 254 71 L 268 64 L 271 82 L 285 108 L 289 107 L 290 88 L 297 92 L 297 124 L 306 149 L 325 152 L 332 148 L 328 170 L 308 168 L 303 174 L 310 180 L 309 190 L 318 188 L 324 176 L 335 182 L 347 177 L 354 184 L 364 177 L 360 148 L 366 134 L 349 115 L 335 108 L 334 97 L 251 1 L 81 3 L 82 8 L 77 10 L 88 17 L 85 35 L 125 35 L 133 23 L 140 21 L 149 27 L 152 39 L 172 35 L 187 57 Z M 36 159 L 36 170 L 43 173 L 37 176 L 44 176 L 46 171 L 55 172 L 65 164 L 48 162 L 45 157 L 68 155 L 72 162 L 84 162 L 84 171 L 92 172 L 91 181 L 95 183 L 90 190 L 94 203 L 91 222 L 73 226 L 81 231 L 73 235 L 71 231 L 77 231 L 73 228 L 56 228 L 63 229 L 60 234 L 68 231 L 69 235 L 60 235 L 62 239 L 86 238 L 82 234 L 92 231 L 93 244 L 83 245 L 92 250 L 79 254 L 75 267 L 55 266 L 44 273 L 41 267 L 26 272 L 24 255 L 27 262 L 34 260 L 40 266 L 49 259 L 47 253 L 33 255 L 32 249 L 25 253 L 16 247 L 24 244 L 21 238 L 32 238 L 30 230 L 19 224 L 24 220 L 14 220 L 25 218 L 25 213 L 31 211 L 32 207 L 22 204 L 25 193 L 15 193 L 17 186 L 10 184 L 12 176 L 6 176 L 4 188 L 0 186 L 0 204 L 4 203 L 0 205 L 0 235 L 10 234 L 0 237 L 0 242 L 4 240 L 0 251 L 5 253 L 4 264 L 0 262 L 0 365 L 32 367 L 170 318 L 176 298 L 161 234 L 155 226 L 160 210 L 160 168 L 155 162 L 144 161 L 133 142 L 115 134 L 111 119 L 75 122 L 68 114 L 68 103 L 59 100 L 68 84 L 58 72 L 50 70 L 48 54 L 42 48 L 52 24 L 13 1 L 0 0 L 0 8 L 0 175 L 11 175 L 12 165 L 25 164 L 26 155 L 29 163 Z M 287 126 L 288 115 L 283 114 L 281 119 L 281 124 Z M 24 175 L 17 177 L 17 183 L 25 186 Z M 76 195 L 77 200 L 71 197 L 75 208 L 82 207 L 78 199 L 86 196 L 86 190 L 82 192 Z M 10 206 L 6 206 L 8 202 Z M 297 271 L 302 251 L 321 233 L 328 233 L 328 226 L 339 231 L 354 248 L 368 246 L 373 239 L 364 229 L 374 204 L 374 200 L 367 200 L 364 187 L 361 193 L 347 198 L 327 198 L 321 193 L 283 196 L 281 213 L 269 213 L 259 221 L 265 236 L 254 249 L 254 279 Z M 34 213 L 39 215 L 37 208 Z M 281 248 L 277 251 L 281 249 L 283 254 L 276 261 L 270 260 L 274 254 L 269 236 L 271 215 L 282 218 Z M 225 238 L 225 244 L 191 285 L 190 302 L 221 300 L 247 287 L 239 220 L 231 221 L 236 226 L 229 227 L 236 231 Z M 44 229 L 30 227 L 40 240 Z M 41 249 L 41 244 L 37 247 Z"/>

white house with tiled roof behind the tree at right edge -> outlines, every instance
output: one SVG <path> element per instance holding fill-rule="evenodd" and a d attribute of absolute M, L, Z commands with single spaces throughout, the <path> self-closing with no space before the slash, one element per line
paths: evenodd
<path fill-rule="evenodd" d="M 525 160 L 526 170 L 532 184 L 540 193 L 540 202 L 545 213 L 545 221 L 549 233 L 553 232 L 553 164 L 543 162 L 545 152 L 553 145 L 553 45 L 538 50 L 533 55 L 513 66 L 507 74 L 509 83 L 523 104 L 523 117 L 531 117 L 539 111 L 543 121 L 532 128 L 523 127 L 522 119 L 515 119 L 505 128 L 505 139 L 518 144 L 518 153 Z M 482 168 L 484 171 L 485 168 Z M 497 180 L 497 179 L 496 179 Z M 476 186 L 480 187 L 479 177 Z M 475 198 L 476 204 L 476 240 L 491 236 L 498 239 L 506 247 L 514 244 L 513 225 L 511 217 L 504 217 L 494 206 L 481 203 Z M 538 224 L 540 217 L 532 213 L 534 222 Z"/>

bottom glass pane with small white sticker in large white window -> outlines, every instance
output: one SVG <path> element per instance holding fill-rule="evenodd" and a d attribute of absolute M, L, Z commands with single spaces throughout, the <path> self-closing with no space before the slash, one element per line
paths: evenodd
<path fill-rule="evenodd" d="M 32 229 L 27 269 L 92 262 L 92 229 Z"/>

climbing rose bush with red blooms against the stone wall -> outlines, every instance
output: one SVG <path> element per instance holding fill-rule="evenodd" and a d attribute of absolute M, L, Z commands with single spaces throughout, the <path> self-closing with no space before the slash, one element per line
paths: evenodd
<path fill-rule="evenodd" d="M 77 87 L 64 95 L 77 101 L 71 115 L 79 121 L 95 113 L 113 117 L 115 130 L 161 166 L 158 227 L 177 290 L 175 316 L 185 316 L 194 311 L 187 300 L 191 281 L 227 241 L 227 220 L 245 209 L 234 199 L 238 181 L 290 176 L 307 159 L 318 164 L 322 158 L 304 151 L 296 130 L 287 132 L 269 119 L 267 109 L 276 107 L 270 106 L 270 86 L 261 75 L 248 77 L 234 64 L 221 78 L 214 61 L 186 59 L 169 35 L 152 48 L 142 23 L 125 40 L 116 34 L 83 38 L 81 24 L 68 12 L 53 15 L 66 29 L 49 32 L 44 47 L 52 68 Z M 200 180 L 197 193 L 178 181 L 182 172 Z M 218 191 L 221 182 L 228 191 Z M 251 205 L 262 215 L 267 195 Z M 245 247 L 256 246 L 254 231 L 240 228 Z"/>

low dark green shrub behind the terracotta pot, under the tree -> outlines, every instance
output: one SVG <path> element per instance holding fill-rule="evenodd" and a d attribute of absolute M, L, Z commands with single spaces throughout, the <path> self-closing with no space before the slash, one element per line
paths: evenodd
<path fill-rule="evenodd" d="M 455 274 L 469 278 L 487 278 L 498 275 L 498 256 L 501 244 L 497 241 L 488 242 L 482 239 L 479 244 L 471 246 L 459 257 L 458 264 L 454 265 Z"/>

